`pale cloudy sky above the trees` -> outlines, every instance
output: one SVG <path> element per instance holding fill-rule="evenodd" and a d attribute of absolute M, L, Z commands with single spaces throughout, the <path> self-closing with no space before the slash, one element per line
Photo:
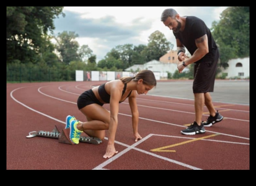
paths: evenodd
<path fill-rule="evenodd" d="M 172 31 L 160 21 L 166 8 L 174 8 L 180 16 L 197 16 L 211 28 L 227 6 L 64 6 L 66 16 L 54 19 L 54 34 L 75 32 L 79 35 L 76 38 L 79 45 L 88 45 L 97 61 L 117 45 L 147 45 L 148 37 L 156 30 L 176 49 Z"/>

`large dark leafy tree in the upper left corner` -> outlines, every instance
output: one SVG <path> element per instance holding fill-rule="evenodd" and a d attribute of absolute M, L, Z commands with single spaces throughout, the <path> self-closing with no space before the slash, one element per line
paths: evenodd
<path fill-rule="evenodd" d="M 65 16 L 62 10 L 63 6 L 6 6 L 6 62 L 42 60 L 45 35 L 55 29 L 54 18 Z"/>

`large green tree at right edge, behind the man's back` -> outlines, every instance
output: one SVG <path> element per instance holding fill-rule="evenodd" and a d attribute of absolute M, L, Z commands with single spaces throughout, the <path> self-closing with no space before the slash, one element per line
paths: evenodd
<path fill-rule="evenodd" d="M 220 65 L 250 56 L 250 6 L 230 6 L 213 22 L 212 34 L 220 49 Z"/>

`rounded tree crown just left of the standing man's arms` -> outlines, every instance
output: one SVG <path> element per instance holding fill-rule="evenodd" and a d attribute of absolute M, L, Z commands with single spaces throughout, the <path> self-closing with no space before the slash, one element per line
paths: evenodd
<path fill-rule="evenodd" d="M 147 61 L 159 60 L 160 57 L 172 48 L 173 44 L 165 38 L 162 32 L 157 30 L 149 36 L 148 45 L 142 51 L 142 54 L 145 56 Z"/>

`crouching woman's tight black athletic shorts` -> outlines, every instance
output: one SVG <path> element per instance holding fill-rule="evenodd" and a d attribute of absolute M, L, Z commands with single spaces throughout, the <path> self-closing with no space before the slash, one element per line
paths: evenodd
<path fill-rule="evenodd" d="M 99 100 L 96 98 L 95 94 L 92 92 L 91 89 L 82 93 L 77 99 L 78 109 L 84 108 L 85 106 L 94 103 L 103 106 L 103 103 L 99 102 Z"/>

